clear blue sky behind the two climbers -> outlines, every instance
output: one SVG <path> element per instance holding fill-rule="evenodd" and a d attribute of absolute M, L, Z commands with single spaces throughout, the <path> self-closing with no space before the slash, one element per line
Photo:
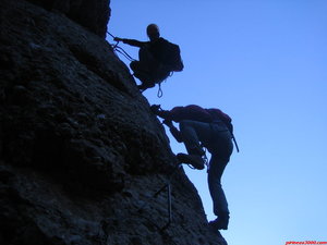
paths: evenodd
<path fill-rule="evenodd" d="M 111 0 L 111 10 L 114 36 L 147 40 L 156 23 L 182 50 L 184 71 L 162 98 L 146 90 L 149 103 L 217 107 L 233 119 L 241 152 L 222 177 L 228 243 L 327 242 L 327 0 Z M 171 147 L 185 152 L 172 137 Z M 206 171 L 184 169 L 214 219 Z"/>

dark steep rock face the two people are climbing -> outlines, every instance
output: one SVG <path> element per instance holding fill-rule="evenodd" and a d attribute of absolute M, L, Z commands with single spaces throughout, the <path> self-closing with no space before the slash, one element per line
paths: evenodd
<path fill-rule="evenodd" d="M 0 14 L 0 244 L 226 245 L 101 38 L 108 1 L 1 0 Z"/>

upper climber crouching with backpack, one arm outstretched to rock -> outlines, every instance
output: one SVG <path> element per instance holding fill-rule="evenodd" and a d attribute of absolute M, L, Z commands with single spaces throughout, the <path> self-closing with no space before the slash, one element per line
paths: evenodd
<path fill-rule="evenodd" d="M 140 48 L 140 61 L 132 61 L 130 68 L 134 72 L 133 75 L 142 82 L 137 86 L 141 90 L 154 87 L 157 83 L 165 81 L 171 72 L 182 71 L 184 68 L 179 46 L 160 37 L 159 28 L 156 24 L 149 24 L 146 33 L 149 41 L 114 38 L 116 41 L 122 41 Z"/>

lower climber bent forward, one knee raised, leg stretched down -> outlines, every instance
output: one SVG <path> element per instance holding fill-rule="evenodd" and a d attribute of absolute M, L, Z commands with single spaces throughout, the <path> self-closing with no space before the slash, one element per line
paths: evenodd
<path fill-rule="evenodd" d="M 229 115 L 219 109 L 204 109 L 199 106 L 174 107 L 161 110 L 160 106 L 152 106 L 152 111 L 165 119 L 171 134 L 178 142 L 183 142 L 189 155 L 178 154 L 180 163 L 192 164 L 202 170 L 205 167 L 205 152 L 201 144 L 211 154 L 208 164 L 208 186 L 217 219 L 209 222 L 213 230 L 227 230 L 229 222 L 228 203 L 221 187 L 221 175 L 233 150 L 232 124 Z M 172 121 L 178 122 L 180 131 Z"/>

